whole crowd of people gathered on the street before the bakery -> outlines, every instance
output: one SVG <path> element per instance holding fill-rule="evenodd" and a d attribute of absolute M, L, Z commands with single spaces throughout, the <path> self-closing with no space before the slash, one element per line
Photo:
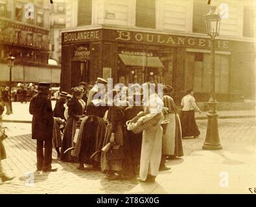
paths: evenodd
<path fill-rule="evenodd" d="M 106 80 L 97 78 L 95 83 L 88 87 L 81 82 L 72 94 L 60 92 L 54 110 L 50 84 L 38 84 L 38 93 L 29 106 L 38 171 L 57 171 L 51 166 L 53 148 L 63 162 L 76 162 L 84 171 L 103 171 L 108 180 L 139 177 L 141 182 L 154 182 L 158 171 L 170 169 L 166 160 L 183 156 L 182 138 L 200 134 L 194 111 L 201 111 L 192 89 L 183 97 L 179 114 L 170 85 L 163 86 L 163 96 L 157 89 L 146 95 L 134 91 L 132 96 L 118 96 L 115 104 L 110 104 L 108 97 L 123 94 L 128 87 L 106 91 L 98 87 L 100 83 L 107 89 Z M 128 127 L 131 120 L 138 124 L 153 118 L 156 122 L 139 132 Z"/>

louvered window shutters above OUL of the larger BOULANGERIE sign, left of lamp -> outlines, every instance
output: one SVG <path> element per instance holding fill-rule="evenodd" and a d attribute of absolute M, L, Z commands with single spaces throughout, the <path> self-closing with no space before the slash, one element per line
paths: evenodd
<path fill-rule="evenodd" d="M 156 0 L 137 0 L 135 26 L 156 28 Z"/>

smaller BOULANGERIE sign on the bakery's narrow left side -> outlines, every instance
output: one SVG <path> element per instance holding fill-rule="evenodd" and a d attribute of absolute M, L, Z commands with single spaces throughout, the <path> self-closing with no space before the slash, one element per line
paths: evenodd
<path fill-rule="evenodd" d="M 99 39 L 99 30 L 64 32 L 63 36 L 64 36 L 64 39 L 63 39 L 64 42 Z"/>

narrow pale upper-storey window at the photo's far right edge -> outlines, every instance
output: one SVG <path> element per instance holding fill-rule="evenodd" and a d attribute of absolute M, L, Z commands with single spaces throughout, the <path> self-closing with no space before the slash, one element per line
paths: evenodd
<path fill-rule="evenodd" d="M 253 37 L 254 15 L 253 8 L 244 7 L 244 37 Z"/>

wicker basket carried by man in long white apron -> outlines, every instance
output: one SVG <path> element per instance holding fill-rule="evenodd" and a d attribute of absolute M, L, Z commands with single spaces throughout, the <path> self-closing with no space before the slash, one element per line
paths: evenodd
<path fill-rule="evenodd" d="M 141 133 L 144 129 L 147 129 L 149 127 L 152 127 L 153 125 L 156 125 L 159 120 L 162 118 L 162 114 L 158 113 L 155 116 L 153 116 L 150 120 L 137 124 L 137 120 L 141 118 L 141 116 L 135 116 L 132 120 L 129 120 L 126 122 L 128 131 L 132 131 L 135 134 Z"/>

